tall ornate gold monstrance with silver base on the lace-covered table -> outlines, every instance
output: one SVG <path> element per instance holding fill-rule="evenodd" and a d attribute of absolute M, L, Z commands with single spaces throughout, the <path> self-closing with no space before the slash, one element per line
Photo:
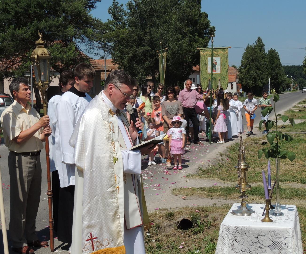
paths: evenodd
<path fill-rule="evenodd" d="M 242 132 L 240 132 L 238 163 L 234 168 L 237 169 L 238 174 L 238 183 L 235 188 L 241 192 L 241 195 L 239 196 L 241 199 L 241 206 L 240 208 L 233 210 L 231 213 L 233 215 L 250 216 L 252 213 L 255 213 L 255 211 L 248 208 L 246 202 L 248 196 L 245 195 L 245 191 L 251 190 L 251 185 L 248 184 L 248 168 L 250 168 L 250 166 L 245 161 L 245 147 L 242 142 Z"/>

